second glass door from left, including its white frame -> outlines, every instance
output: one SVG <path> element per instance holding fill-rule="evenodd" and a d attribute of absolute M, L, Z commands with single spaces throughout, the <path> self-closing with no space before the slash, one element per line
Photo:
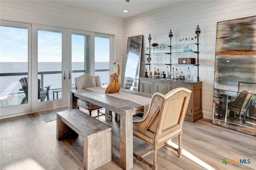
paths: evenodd
<path fill-rule="evenodd" d="M 66 29 L 32 26 L 32 110 L 66 106 Z"/>

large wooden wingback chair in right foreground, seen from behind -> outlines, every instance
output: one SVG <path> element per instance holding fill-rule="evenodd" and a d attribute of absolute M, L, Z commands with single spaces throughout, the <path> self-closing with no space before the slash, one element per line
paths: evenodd
<path fill-rule="evenodd" d="M 181 134 L 191 92 L 187 88 L 175 88 L 166 95 L 154 93 L 147 114 L 143 119 L 134 121 L 133 135 L 150 144 L 152 149 L 143 155 L 133 155 L 153 170 L 158 169 L 156 155 L 162 146 L 177 151 L 179 158 L 182 155 Z M 179 140 L 178 149 L 167 144 L 167 141 L 175 136 L 178 136 Z M 143 159 L 151 153 L 154 154 L 153 165 Z"/>

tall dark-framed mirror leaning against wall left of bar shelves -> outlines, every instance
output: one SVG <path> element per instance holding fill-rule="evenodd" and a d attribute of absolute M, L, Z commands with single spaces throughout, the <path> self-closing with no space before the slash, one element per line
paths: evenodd
<path fill-rule="evenodd" d="M 143 35 L 128 37 L 124 88 L 138 91 Z"/>

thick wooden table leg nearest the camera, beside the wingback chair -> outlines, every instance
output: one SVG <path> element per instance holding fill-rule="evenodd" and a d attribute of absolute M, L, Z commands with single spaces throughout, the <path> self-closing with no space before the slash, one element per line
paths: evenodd
<path fill-rule="evenodd" d="M 133 168 L 132 109 L 122 108 L 120 114 L 120 167 Z"/>

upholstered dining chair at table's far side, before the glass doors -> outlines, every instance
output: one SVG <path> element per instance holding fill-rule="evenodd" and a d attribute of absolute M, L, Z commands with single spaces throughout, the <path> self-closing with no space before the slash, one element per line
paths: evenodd
<path fill-rule="evenodd" d="M 100 77 L 99 76 L 93 76 L 90 74 L 84 74 L 82 76 L 75 78 L 75 85 L 76 89 L 82 89 L 82 88 L 88 88 L 88 87 L 101 87 Z M 90 116 L 92 116 L 92 111 L 97 110 L 98 116 L 103 116 L 105 114 L 100 113 L 100 106 L 96 104 L 92 104 L 90 102 L 86 102 L 84 100 L 78 99 L 77 101 L 78 108 L 82 107 L 89 111 Z M 94 116 L 94 117 L 98 117 Z M 109 115 L 112 120 L 112 114 Z"/>

